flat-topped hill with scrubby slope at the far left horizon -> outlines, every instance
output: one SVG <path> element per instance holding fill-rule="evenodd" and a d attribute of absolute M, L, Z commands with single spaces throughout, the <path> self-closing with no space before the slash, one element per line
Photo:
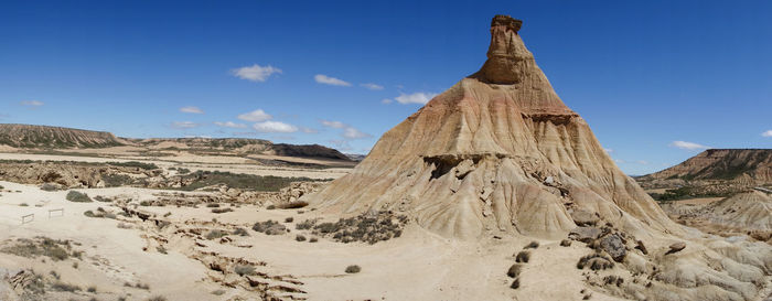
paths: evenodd
<path fill-rule="evenodd" d="M 126 140 L 106 131 L 30 125 L 0 125 L 0 144 L 13 148 L 109 148 L 126 143 Z"/>

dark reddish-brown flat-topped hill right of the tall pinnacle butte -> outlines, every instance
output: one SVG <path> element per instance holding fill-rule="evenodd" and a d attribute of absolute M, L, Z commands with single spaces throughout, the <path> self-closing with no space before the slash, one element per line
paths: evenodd
<path fill-rule="evenodd" d="M 710 149 L 666 170 L 637 178 L 652 180 L 733 180 L 772 182 L 772 149 Z"/>

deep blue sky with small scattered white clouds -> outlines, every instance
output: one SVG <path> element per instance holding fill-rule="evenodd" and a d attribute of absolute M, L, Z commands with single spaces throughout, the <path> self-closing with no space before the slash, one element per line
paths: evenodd
<path fill-rule="evenodd" d="M 503 13 L 630 174 L 772 147 L 771 1 L 534 2 L 2 1 L 0 122 L 366 153 Z"/>

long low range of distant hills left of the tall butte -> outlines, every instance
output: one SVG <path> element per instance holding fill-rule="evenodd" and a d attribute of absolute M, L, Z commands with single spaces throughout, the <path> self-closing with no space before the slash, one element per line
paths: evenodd
<path fill-rule="evenodd" d="M 96 149 L 133 146 L 149 150 L 190 150 L 232 154 L 266 154 L 351 161 L 335 149 L 319 144 L 274 143 L 247 138 L 118 138 L 110 132 L 47 126 L 0 125 L 0 146 L 19 149 Z"/>

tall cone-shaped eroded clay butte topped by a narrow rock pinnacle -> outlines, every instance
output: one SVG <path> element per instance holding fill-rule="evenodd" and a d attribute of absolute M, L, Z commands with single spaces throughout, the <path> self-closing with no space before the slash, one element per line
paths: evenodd
<path fill-rule="evenodd" d="M 333 212 L 395 209 L 448 237 L 485 230 L 562 237 L 575 211 L 631 232 L 673 226 L 557 96 L 495 17 L 482 69 L 385 133 L 352 174 L 310 200 Z"/>

